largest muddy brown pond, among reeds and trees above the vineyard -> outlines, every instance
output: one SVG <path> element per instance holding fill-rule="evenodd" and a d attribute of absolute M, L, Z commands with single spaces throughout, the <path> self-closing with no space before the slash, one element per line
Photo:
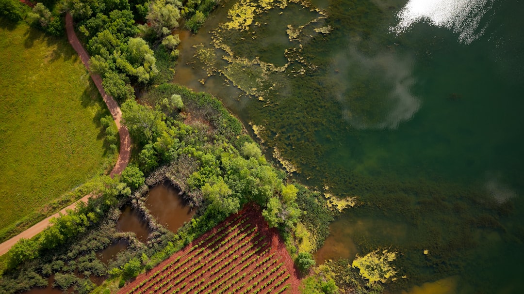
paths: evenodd
<path fill-rule="evenodd" d="M 172 232 L 177 232 L 194 214 L 194 210 L 185 205 L 179 193 L 172 185 L 163 183 L 152 187 L 147 194 L 146 206 L 149 212 L 158 223 Z"/>

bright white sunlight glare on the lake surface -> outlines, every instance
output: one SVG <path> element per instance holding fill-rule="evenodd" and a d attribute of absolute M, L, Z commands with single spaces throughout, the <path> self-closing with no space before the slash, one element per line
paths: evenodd
<path fill-rule="evenodd" d="M 482 36 L 487 24 L 481 22 L 493 0 L 410 0 L 397 17 L 399 23 L 391 31 L 405 32 L 420 21 L 445 27 L 459 34 L 459 41 L 470 44 Z"/>

